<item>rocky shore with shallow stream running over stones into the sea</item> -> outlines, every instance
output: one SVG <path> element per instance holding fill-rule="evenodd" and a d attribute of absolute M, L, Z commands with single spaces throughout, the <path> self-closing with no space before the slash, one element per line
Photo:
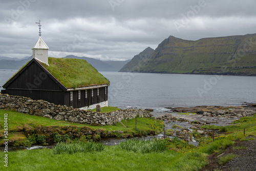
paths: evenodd
<path fill-rule="evenodd" d="M 256 104 L 244 106 L 196 106 L 193 108 L 167 108 L 172 113 L 156 117 L 163 120 L 167 136 L 175 136 L 192 141 L 213 134 L 223 134 L 217 130 L 202 129 L 202 125 L 225 126 L 241 117 L 252 116 L 256 113 Z"/>

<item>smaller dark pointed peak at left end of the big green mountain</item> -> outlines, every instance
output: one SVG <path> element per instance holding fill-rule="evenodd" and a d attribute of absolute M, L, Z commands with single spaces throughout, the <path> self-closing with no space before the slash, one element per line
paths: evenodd
<path fill-rule="evenodd" d="M 144 61 L 147 61 L 149 57 L 154 53 L 154 49 L 147 47 L 145 50 L 135 55 L 132 60 L 126 63 L 119 72 L 133 72 L 139 71 L 140 66 L 144 65 Z"/>

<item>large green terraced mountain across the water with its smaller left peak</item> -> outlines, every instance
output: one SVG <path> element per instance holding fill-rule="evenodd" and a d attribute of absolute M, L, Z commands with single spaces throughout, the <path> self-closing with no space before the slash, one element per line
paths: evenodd
<path fill-rule="evenodd" d="M 256 34 L 202 38 L 169 36 L 151 56 L 120 71 L 146 73 L 256 75 Z"/>

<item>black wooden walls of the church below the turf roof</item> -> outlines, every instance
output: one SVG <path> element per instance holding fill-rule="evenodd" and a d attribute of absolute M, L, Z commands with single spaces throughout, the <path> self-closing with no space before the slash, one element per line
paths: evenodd
<path fill-rule="evenodd" d="M 57 105 L 72 105 L 74 108 L 82 108 L 108 100 L 108 87 L 102 87 L 98 89 L 99 95 L 97 89 L 81 90 L 80 99 L 78 99 L 78 91 L 75 90 L 73 91 L 73 101 L 71 101 L 70 92 L 67 92 L 65 87 L 63 88 L 55 78 L 41 68 L 35 59 L 32 59 L 21 71 L 7 84 L 6 94 L 30 97 L 34 100 L 41 99 Z"/>

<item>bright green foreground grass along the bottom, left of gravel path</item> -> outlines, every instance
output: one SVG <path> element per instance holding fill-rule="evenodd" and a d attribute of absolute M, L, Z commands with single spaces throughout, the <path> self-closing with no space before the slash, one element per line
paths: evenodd
<path fill-rule="evenodd" d="M 3 152 L 0 153 L 2 158 Z M 135 153 L 119 145 L 105 146 L 101 152 L 56 154 L 54 149 L 34 149 L 8 153 L 8 170 L 198 170 L 206 155 L 197 152 L 181 154 Z M 1 170 L 5 170 L 3 164 Z"/>

